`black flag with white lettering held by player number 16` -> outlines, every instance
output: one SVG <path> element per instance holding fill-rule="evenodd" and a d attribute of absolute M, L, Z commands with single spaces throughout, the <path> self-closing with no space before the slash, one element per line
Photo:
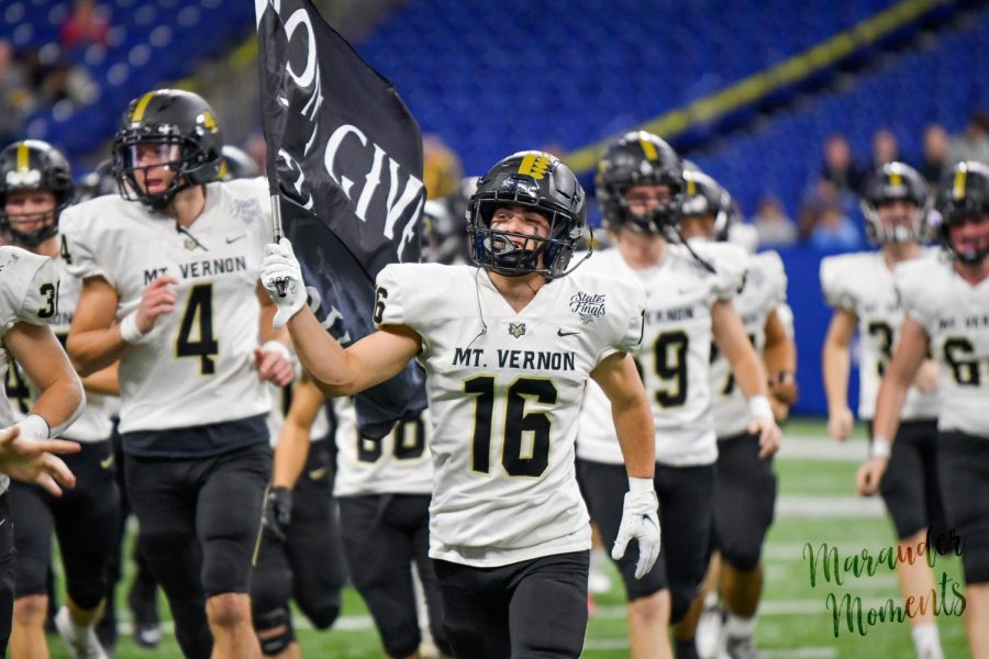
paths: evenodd
<path fill-rule="evenodd" d="M 418 261 L 422 135 L 395 87 L 309 0 L 255 0 L 273 202 L 316 317 L 341 343 L 371 333 L 374 280 Z M 356 396 L 362 434 L 379 438 L 425 407 L 423 373 Z"/>

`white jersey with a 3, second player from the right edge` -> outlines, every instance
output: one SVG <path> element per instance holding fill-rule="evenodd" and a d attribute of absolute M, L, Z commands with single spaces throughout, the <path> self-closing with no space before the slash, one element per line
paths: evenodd
<path fill-rule="evenodd" d="M 879 382 L 892 359 L 900 338 L 900 325 L 903 324 L 903 308 L 893 288 L 893 273 L 881 252 L 829 256 L 821 260 L 821 289 L 830 306 L 858 316 L 862 346 L 858 416 L 873 418 Z M 940 410 L 940 392 L 921 393 L 911 387 L 901 418 L 936 418 Z"/>

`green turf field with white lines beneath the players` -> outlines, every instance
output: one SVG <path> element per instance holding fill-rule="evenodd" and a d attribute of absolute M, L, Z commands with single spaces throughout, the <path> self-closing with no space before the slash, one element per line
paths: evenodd
<path fill-rule="evenodd" d="M 888 567 L 875 574 L 858 579 L 847 578 L 841 585 L 822 583 L 819 570 L 815 587 L 810 584 L 810 568 L 804 558 L 808 543 L 816 551 L 822 543 L 836 547 L 842 558 L 867 549 L 871 556 L 889 547 L 893 539 L 891 524 L 881 513 L 877 502 L 863 501 L 854 495 L 854 474 L 857 459 L 864 456 L 862 434 L 851 439 L 849 446 L 840 446 L 825 439 L 823 424 L 813 421 L 790 423 L 786 433 L 789 445 L 777 460 L 780 476 L 780 503 L 777 522 L 766 548 L 766 591 L 760 612 L 757 643 L 767 659 L 830 659 L 830 658 L 911 658 L 909 623 L 868 624 L 869 611 L 886 604 L 889 597 L 898 599 L 896 577 Z M 669 533 L 664 541 L 676 541 Z M 947 597 L 942 606 L 951 610 L 960 604 L 951 592 L 952 580 L 960 582 L 960 563 L 957 558 L 937 557 L 935 580 L 946 579 Z M 597 612 L 590 619 L 585 657 L 593 659 L 627 657 L 624 600 L 619 580 L 611 592 L 597 595 Z M 120 615 L 125 618 L 121 589 Z M 834 635 L 833 617 L 827 608 L 829 594 L 838 604 L 845 594 L 860 597 L 863 606 L 863 636 L 857 626 L 848 630 L 844 613 L 841 615 L 838 636 Z M 167 608 L 164 608 L 167 611 Z M 874 614 L 875 615 L 875 614 Z M 297 618 L 299 626 L 305 626 Z M 960 659 L 968 656 L 962 618 L 951 611 L 937 616 L 945 656 Z M 356 592 L 347 589 L 342 618 L 326 633 L 302 628 L 298 636 L 307 657 L 373 658 L 382 652 L 367 616 L 366 608 Z M 52 656 L 68 657 L 62 640 L 51 639 Z M 155 651 L 137 648 L 125 633 L 121 635 L 115 657 L 121 659 L 179 658 L 181 654 L 170 633 Z"/>

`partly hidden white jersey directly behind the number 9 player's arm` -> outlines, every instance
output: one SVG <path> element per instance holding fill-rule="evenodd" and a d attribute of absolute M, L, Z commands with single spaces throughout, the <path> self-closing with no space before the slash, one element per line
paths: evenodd
<path fill-rule="evenodd" d="M 787 301 L 787 272 L 775 252 L 756 254 L 749 259 L 745 286 L 732 303 L 745 325 L 748 340 L 762 355 L 766 347 L 766 319 L 770 311 Z M 711 346 L 711 357 L 714 433 L 719 438 L 734 437 L 744 433 L 752 420 L 748 401 L 735 382 L 732 365 L 714 345 Z"/>

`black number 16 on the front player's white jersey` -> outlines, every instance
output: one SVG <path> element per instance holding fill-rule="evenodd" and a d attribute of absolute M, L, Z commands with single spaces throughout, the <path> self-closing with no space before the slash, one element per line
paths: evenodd
<path fill-rule="evenodd" d="M 470 445 L 470 468 L 480 473 L 491 472 L 491 426 L 494 416 L 494 377 L 478 376 L 464 382 L 464 392 L 474 394 L 474 438 Z M 505 391 L 504 439 L 501 445 L 501 466 L 509 476 L 538 478 L 549 466 L 549 428 L 545 412 L 525 412 L 526 398 L 540 404 L 556 404 L 556 387 L 549 380 L 519 378 Z M 532 444 L 523 443 L 523 435 L 532 434 Z"/>

